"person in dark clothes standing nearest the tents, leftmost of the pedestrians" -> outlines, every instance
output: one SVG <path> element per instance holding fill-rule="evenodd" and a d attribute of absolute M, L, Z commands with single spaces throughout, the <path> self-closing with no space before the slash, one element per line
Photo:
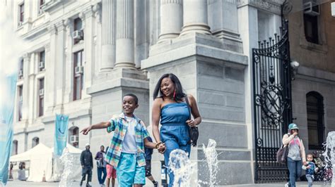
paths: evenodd
<path fill-rule="evenodd" d="M 90 153 L 90 144 L 86 143 L 85 145 L 86 150 L 83 150 L 81 152 L 81 167 L 83 168 L 81 172 L 81 186 L 83 185 L 83 181 L 86 180 L 86 174 L 87 176 L 87 183 L 86 187 L 90 187 L 90 181 L 92 181 L 92 169 L 93 169 L 93 156 L 92 153 Z"/>

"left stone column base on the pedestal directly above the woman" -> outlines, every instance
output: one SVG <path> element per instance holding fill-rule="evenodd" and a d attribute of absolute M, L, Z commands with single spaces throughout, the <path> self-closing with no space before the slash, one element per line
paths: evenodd
<path fill-rule="evenodd" d="M 182 30 L 182 0 L 160 0 L 158 42 L 178 37 Z"/>

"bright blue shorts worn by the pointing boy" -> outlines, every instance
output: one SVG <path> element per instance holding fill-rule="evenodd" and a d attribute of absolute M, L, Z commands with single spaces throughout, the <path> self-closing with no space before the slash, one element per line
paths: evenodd
<path fill-rule="evenodd" d="M 136 162 L 136 154 L 121 153 L 117 166 L 117 182 L 120 187 L 146 184 L 146 169 Z"/>

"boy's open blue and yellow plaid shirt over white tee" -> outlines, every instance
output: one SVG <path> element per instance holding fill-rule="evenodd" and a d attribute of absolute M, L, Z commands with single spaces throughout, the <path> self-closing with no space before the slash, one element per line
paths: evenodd
<path fill-rule="evenodd" d="M 143 139 L 148 137 L 149 134 L 146 130 L 146 125 L 135 115 L 134 118 L 134 122 L 137 123 L 135 126 L 135 139 L 137 147 L 136 160 L 139 166 L 145 166 L 146 160 L 144 157 Z M 110 127 L 107 127 L 107 132 L 110 133 L 114 131 L 114 136 L 110 141 L 110 148 L 107 150 L 105 160 L 115 168 L 119 164 L 120 155 L 122 153 L 122 141 L 124 140 L 124 135 L 127 133 L 127 129 L 128 123 L 123 112 L 118 117 L 112 117 L 112 119 L 110 119 Z"/>

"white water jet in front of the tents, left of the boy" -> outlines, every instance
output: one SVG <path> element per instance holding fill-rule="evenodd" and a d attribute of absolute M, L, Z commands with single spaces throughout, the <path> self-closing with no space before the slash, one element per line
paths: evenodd
<path fill-rule="evenodd" d="M 61 163 L 64 165 L 63 173 L 61 174 L 61 181 L 59 187 L 72 186 L 72 180 L 69 179 L 72 169 L 74 167 L 74 157 L 69 153 L 68 148 L 64 148 L 63 154 L 59 157 Z"/>

